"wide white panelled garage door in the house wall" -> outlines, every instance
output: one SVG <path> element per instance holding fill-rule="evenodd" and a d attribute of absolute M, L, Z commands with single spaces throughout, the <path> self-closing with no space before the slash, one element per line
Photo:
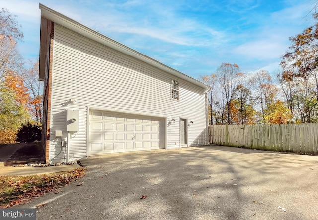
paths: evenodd
<path fill-rule="evenodd" d="M 164 119 L 89 112 L 89 154 L 164 148 Z"/>

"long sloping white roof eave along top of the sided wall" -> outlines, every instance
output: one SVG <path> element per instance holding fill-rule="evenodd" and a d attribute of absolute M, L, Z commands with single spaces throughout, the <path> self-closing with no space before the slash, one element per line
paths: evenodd
<path fill-rule="evenodd" d="M 53 21 L 56 24 L 64 26 L 64 27 L 66 27 L 72 31 L 75 31 L 75 32 L 77 32 L 77 33 L 79 33 L 79 34 L 81 34 L 89 39 L 97 41 L 97 42 L 99 42 L 107 47 L 110 47 L 114 50 L 117 50 L 117 51 L 122 52 L 126 55 L 129 55 L 129 56 L 132 56 L 136 59 L 139 59 L 145 63 L 148 63 L 152 66 L 155 66 L 155 67 L 157 67 L 165 72 L 168 72 L 174 76 L 177 76 L 181 79 L 184 79 L 184 80 L 186 80 L 190 83 L 193 83 L 197 86 L 200 86 L 200 87 L 206 89 L 206 91 L 211 89 L 210 86 L 208 86 L 208 85 L 206 85 L 206 84 L 204 84 L 204 83 L 202 83 L 202 82 L 200 82 L 200 81 L 198 81 L 198 80 L 196 80 L 196 79 L 194 79 L 194 78 L 192 78 L 192 77 L 190 77 L 182 72 L 179 72 L 179 71 L 177 71 L 177 70 L 175 70 L 167 65 L 164 65 L 163 63 L 161 63 L 161 62 L 159 62 L 159 61 L 157 61 L 157 60 L 155 60 L 147 55 L 141 54 L 138 51 L 135 51 L 135 50 L 105 36 L 105 35 L 102 35 L 101 33 L 97 32 L 97 31 L 95 31 L 95 30 L 93 30 L 93 29 L 91 29 L 83 24 L 80 24 L 79 22 L 77 22 L 77 21 L 75 21 L 75 20 L 55 11 L 55 10 L 52 10 L 51 8 L 45 6 L 41 3 L 39 4 L 39 8 L 41 9 L 41 18 L 44 17 L 50 21 Z M 40 49 L 40 53 L 41 53 L 41 49 Z M 43 79 L 43 78 L 44 78 L 44 73 L 42 73 L 42 71 L 40 71 L 39 72 L 39 79 Z"/>

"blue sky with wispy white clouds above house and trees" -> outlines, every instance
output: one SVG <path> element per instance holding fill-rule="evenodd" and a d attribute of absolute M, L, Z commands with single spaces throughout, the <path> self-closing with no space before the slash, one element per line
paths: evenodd
<path fill-rule="evenodd" d="M 195 79 L 223 62 L 274 74 L 289 37 L 314 23 L 313 0 L 41 0 L 100 33 Z M 0 0 L 18 15 L 23 58 L 39 55 L 37 0 Z"/>

